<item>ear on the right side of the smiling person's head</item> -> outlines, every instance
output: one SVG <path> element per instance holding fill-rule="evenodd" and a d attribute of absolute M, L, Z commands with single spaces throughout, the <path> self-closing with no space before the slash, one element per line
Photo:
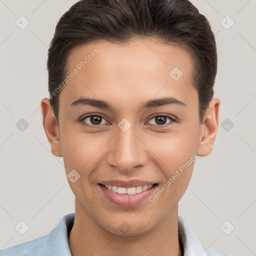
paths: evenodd
<path fill-rule="evenodd" d="M 206 156 L 212 151 L 213 143 L 215 141 L 220 113 L 220 100 L 213 98 L 206 108 L 203 122 L 200 126 L 200 135 L 197 151 L 200 156 Z"/>

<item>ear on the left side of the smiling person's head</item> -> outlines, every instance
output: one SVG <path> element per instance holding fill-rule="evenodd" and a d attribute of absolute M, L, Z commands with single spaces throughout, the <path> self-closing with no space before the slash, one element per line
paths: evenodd
<path fill-rule="evenodd" d="M 50 143 L 51 152 L 55 156 L 62 156 L 59 140 L 59 129 L 56 121 L 56 117 L 50 105 L 48 98 L 41 100 L 41 111 L 42 111 L 42 125 Z"/>

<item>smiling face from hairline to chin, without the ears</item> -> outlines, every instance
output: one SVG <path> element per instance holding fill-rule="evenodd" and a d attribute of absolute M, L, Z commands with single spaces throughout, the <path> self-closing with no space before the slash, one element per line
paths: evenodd
<path fill-rule="evenodd" d="M 67 67 L 75 75 L 60 92 L 51 145 L 74 176 L 77 208 L 114 234 L 123 221 L 129 234 L 152 229 L 177 208 L 205 130 L 190 54 L 149 39 L 98 41 L 74 48 Z"/>

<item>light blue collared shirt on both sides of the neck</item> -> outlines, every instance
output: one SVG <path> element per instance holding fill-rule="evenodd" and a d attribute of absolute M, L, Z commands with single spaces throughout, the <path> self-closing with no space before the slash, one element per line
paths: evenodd
<path fill-rule="evenodd" d="M 0 256 L 71 256 L 67 235 L 73 226 L 74 216 L 74 213 L 64 215 L 48 234 L 0 250 Z M 183 218 L 178 216 L 178 219 L 184 227 L 186 237 L 184 256 L 227 256 L 204 247 Z"/>

